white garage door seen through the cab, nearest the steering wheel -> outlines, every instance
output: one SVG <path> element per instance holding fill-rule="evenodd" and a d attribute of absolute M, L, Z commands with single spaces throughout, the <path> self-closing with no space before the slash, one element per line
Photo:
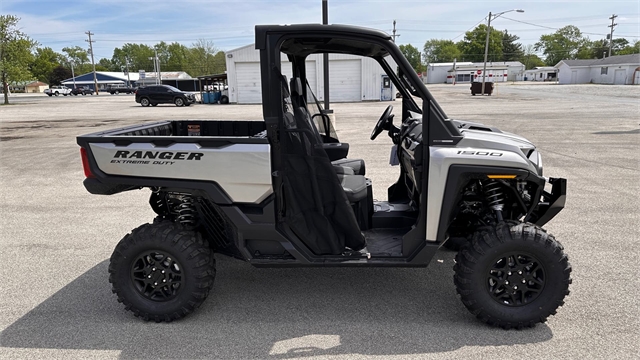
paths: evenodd
<path fill-rule="evenodd" d="M 329 62 L 329 93 L 333 101 L 362 101 L 362 61 Z"/>

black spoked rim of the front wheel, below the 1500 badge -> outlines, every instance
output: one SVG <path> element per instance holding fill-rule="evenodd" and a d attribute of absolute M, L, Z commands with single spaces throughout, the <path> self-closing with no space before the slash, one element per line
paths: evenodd
<path fill-rule="evenodd" d="M 492 263 L 487 290 L 500 304 L 522 306 L 538 298 L 544 283 L 542 264 L 529 254 L 517 252 L 501 256 Z"/>

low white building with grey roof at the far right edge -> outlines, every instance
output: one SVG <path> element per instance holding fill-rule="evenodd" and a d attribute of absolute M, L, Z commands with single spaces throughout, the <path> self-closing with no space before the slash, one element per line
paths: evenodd
<path fill-rule="evenodd" d="M 561 60 L 558 69 L 560 84 L 638 85 L 640 54 L 617 55 L 594 60 Z"/>

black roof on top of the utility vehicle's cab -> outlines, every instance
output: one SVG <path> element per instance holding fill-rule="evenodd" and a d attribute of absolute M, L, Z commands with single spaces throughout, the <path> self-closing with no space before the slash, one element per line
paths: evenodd
<path fill-rule="evenodd" d="M 371 42 L 350 39 L 358 38 L 390 41 L 391 36 L 383 31 L 351 25 L 256 25 L 256 49 L 264 49 L 268 35 L 295 35 L 282 44 L 281 51 L 292 55 L 314 53 L 346 53 L 362 56 L 385 56 L 387 51 Z"/>

